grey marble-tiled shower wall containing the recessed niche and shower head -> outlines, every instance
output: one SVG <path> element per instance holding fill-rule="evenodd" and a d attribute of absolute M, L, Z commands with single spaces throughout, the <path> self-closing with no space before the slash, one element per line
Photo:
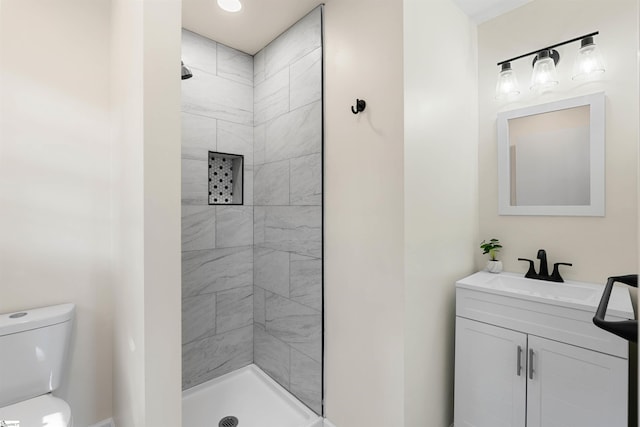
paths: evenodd
<path fill-rule="evenodd" d="M 183 30 L 182 386 L 253 362 L 253 58 Z M 242 154 L 244 205 L 207 204 L 208 151 Z"/>

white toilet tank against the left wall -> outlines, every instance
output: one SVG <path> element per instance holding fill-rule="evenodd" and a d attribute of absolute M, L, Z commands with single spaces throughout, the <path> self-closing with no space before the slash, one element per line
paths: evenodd
<path fill-rule="evenodd" d="M 0 407 L 60 386 L 74 313 L 61 304 L 0 314 Z"/>

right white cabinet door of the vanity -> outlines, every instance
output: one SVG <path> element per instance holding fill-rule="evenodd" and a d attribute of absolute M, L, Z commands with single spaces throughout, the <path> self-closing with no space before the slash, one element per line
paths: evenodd
<path fill-rule="evenodd" d="M 529 351 L 527 427 L 627 426 L 627 360 L 531 335 Z"/>

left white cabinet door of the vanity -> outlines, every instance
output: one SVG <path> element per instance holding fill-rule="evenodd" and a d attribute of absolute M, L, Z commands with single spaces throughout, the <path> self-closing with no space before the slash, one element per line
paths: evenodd
<path fill-rule="evenodd" d="M 523 333 L 456 317 L 456 427 L 524 427 L 526 347 Z"/>

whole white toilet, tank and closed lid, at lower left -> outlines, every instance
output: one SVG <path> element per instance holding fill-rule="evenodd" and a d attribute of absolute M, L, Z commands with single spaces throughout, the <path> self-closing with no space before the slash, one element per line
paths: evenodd
<path fill-rule="evenodd" d="M 51 392 L 63 378 L 74 314 L 73 304 L 0 314 L 0 426 L 73 426 L 69 405 Z"/>

